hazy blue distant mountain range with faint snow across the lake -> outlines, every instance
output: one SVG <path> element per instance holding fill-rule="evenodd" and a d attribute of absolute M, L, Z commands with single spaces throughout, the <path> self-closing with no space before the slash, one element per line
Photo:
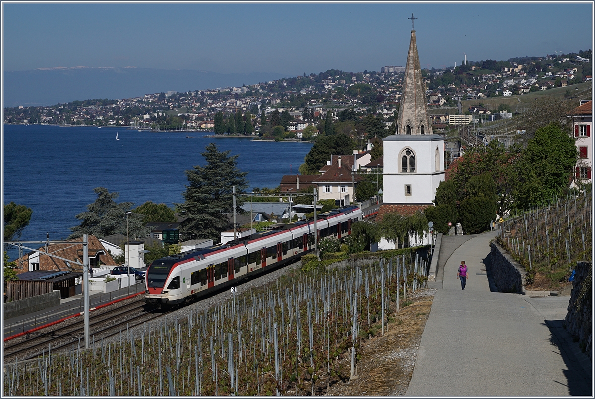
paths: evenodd
<path fill-rule="evenodd" d="M 285 77 L 273 72 L 219 74 L 191 69 L 40 68 L 4 71 L 4 106 L 48 106 L 87 99 L 127 99 L 148 93 L 241 86 Z"/>

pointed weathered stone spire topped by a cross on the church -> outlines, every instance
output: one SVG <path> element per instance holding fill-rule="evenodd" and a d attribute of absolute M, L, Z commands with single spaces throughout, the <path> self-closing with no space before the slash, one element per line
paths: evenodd
<path fill-rule="evenodd" d="M 413 26 L 413 14 L 408 19 L 411 19 Z M 415 42 L 415 30 L 411 30 L 396 134 L 433 134 L 430 118 L 428 118 L 428 103 Z"/>

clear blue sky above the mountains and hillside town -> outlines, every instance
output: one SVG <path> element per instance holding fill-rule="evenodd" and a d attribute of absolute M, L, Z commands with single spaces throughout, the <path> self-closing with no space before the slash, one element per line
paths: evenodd
<path fill-rule="evenodd" d="M 136 66 L 297 75 L 592 47 L 591 4 L 4 4 L 4 69 Z"/>

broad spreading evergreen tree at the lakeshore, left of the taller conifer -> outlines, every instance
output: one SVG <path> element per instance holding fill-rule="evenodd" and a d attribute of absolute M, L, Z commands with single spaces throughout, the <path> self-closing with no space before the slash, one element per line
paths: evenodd
<path fill-rule="evenodd" d="M 92 234 L 102 238 L 115 233 L 128 235 L 130 238 L 148 236 L 150 230 L 143 226 L 143 216 L 131 213 L 126 217 L 134 205 L 133 202 L 117 204 L 117 192 L 109 192 L 107 188 L 96 187 L 97 200 L 87 205 L 87 211 L 79 213 L 76 219 L 82 220 L 79 226 L 70 227 L 72 234 L 68 239 L 82 237 L 83 234 Z"/>

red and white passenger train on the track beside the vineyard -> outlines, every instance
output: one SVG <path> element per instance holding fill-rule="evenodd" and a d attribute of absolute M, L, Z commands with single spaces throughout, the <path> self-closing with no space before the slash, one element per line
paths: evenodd
<path fill-rule="evenodd" d="M 362 220 L 358 207 L 318 216 L 318 239 L 343 238 Z M 145 302 L 170 306 L 234 286 L 314 252 L 314 219 L 154 261 L 145 276 Z"/>

